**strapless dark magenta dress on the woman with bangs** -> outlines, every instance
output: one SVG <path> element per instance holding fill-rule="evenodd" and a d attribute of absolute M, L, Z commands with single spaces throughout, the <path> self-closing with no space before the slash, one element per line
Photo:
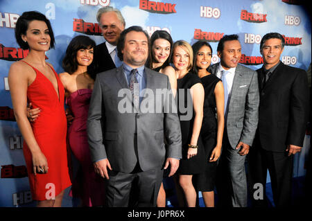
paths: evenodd
<path fill-rule="evenodd" d="M 73 179 L 72 195 L 83 200 L 83 206 L 104 206 L 105 183 L 97 175 L 91 161 L 88 137 L 87 118 L 92 89 L 78 89 L 67 98 L 67 105 L 73 112 L 73 121 L 68 130 L 71 151 L 80 162 L 82 173 Z"/>

